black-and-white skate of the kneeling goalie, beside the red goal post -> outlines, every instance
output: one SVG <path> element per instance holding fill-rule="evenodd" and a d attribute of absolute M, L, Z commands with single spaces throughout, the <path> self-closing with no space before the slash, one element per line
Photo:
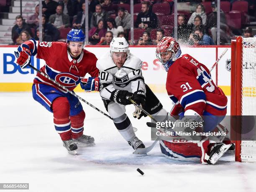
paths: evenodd
<path fill-rule="evenodd" d="M 223 154 L 225 154 L 226 151 L 230 148 L 232 144 L 224 144 L 224 143 L 215 143 L 211 147 L 210 156 L 207 160 L 208 164 L 215 164 Z"/>

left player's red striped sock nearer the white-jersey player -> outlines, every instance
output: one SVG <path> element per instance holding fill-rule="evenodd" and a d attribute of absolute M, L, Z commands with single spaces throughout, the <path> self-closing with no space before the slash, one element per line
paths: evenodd
<path fill-rule="evenodd" d="M 72 138 L 77 139 L 80 136 L 82 136 L 84 131 L 84 119 L 85 119 L 84 110 L 82 110 L 77 115 L 70 116 Z"/>

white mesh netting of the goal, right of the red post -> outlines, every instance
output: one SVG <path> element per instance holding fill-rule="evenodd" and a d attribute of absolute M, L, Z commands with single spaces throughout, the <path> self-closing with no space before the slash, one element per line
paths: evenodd
<path fill-rule="evenodd" d="M 242 115 L 256 115 L 256 38 L 243 38 L 242 44 Z M 249 134 L 255 137 L 255 129 Z M 241 142 L 241 159 L 256 161 L 256 141 Z"/>

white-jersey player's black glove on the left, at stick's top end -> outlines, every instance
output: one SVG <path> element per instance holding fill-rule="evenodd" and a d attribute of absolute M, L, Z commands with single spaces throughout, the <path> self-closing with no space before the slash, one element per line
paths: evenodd
<path fill-rule="evenodd" d="M 127 96 L 132 97 L 133 94 L 126 90 L 115 90 L 111 93 L 110 100 L 121 105 L 130 105 L 131 102 L 128 99 L 126 99 Z"/>

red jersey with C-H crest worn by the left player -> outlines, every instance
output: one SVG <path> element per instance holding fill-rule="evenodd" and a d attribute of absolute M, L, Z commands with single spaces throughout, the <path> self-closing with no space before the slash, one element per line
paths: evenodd
<path fill-rule="evenodd" d="M 31 39 L 26 41 L 26 44 L 33 56 L 46 61 L 46 65 L 41 67 L 40 71 L 69 90 L 74 90 L 87 73 L 92 77 L 98 76 L 97 58 L 87 50 L 83 50 L 79 58 L 72 59 L 67 50 L 67 44 L 63 42 L 39 42 Z M 56 87 L 53 82 L 39 73 L 36 74 L 34 83 Z"/>

